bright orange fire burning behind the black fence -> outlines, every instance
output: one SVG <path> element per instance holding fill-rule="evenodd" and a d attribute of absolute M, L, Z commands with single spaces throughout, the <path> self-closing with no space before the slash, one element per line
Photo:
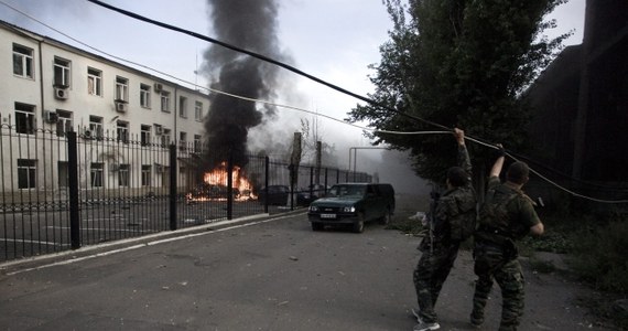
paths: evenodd
<path fill-rule="evenodd" d="M 216 194 L 206 194 L 206 196 L 194 196 L 193 200 L 226 200 L 226 192 L 220 191 L 225 191 L 228 185 L 227 162 L 221 162 L 216 169 L 206 172 L 203 180 L 209 188 L 215 188 L 217 192 L 215 192 Z M 257 199 L 253 194 L 253 185 L 246 178 L 240 167 L 234 167 L 234 171 L 231 172 L 231 185 L 234 188 L 234 200 L 248 201 Z M 188 199 L 192 199 L 190 194 Z"/>

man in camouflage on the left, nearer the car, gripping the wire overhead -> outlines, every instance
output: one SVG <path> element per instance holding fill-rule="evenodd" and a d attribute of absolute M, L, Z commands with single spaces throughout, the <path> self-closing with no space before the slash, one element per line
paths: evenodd
<path fill-rule="evenodd" d="M 419 246 L 422 256 L 413 274 L 419 302 L 419 311 L 413 310 L 419 321 L 414 331 L 440 329 L 434 306 L 458 255 L 461 244 L 458 239 L 452 238 L 452 220 L 470 216 L 475 224 L 476 197 L 470 183 L 472 164 L 464 131 L 456 128 L 454 136 L 458 143 L 459 167 L 447 170 L 447 191 L 434 200 L 435 205 L 430 215 L 430 236 L 425 236 Z"/>

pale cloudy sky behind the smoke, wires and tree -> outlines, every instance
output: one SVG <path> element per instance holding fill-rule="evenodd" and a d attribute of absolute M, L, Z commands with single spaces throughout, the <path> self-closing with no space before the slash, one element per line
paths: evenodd
<path fill-rule="evenodd" d="M 206 0 L 104 2 L 215 38 Z M 3 3 L 94 49 L 158 68 L 192 85 L 208 85 L 205 77 L 195 74 L 202 65 L 203 52 L 209 46 L 205 41 L 133 20 L 86 0 L 0 0 L 1 20 L 73 45 L 77 43 Z M 373 72 L 368 65 L 379 62 L 379 46 L 388 40 L 391 29 L 381 0 L 280 0 L 279 3 L 279 41 L 282 52 L 289 56 L 285 61 L 288 64 L 358 95 L 366 96 L 373 92 L 368 79 Z M 571 0 L 560 6 L 551 15 L 556 20 L 557 29 L 548 34 L 552 36 L 574 31 L 565 45 L 580 44 L 584 8 L 585 0 Z M 85 45 L 77 46 L 86 49 Z M 94 49 L 86 50 L 100 54 Z M 190 86 L 173 78 L 167 79 Z M 312 113 L 342 120 L 360 103 L 290 72 L 282 73 L 282 87 L 273 102 L 311 111 L 280 108 L 270 128 L 264 129 L 285 132 L 288 139 L 291 139 L 292 132 L 300 130 L 300 120 L 314 122 Z M 316 127 L 322 139 L 335 146 L 342 167 L 348 167 L 351 147 L 369 146 L 369 140 L 359 128 L 324 117 L 318 117 Z M 251 135 L 251 140 L 262 140 L 256 139 L 255 132 Z M 383 154 L 380 150 L 360 150 L 358 164 L 369 169 L 357 170 L 383 174 L 380 169 L 386 167 L 380 163 Z"/>

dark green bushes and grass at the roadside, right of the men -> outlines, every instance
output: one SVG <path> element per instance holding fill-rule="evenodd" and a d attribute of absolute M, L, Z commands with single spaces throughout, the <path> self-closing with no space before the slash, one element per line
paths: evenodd
<path fill-rule="evenodd" d="M 537 257 L 538 252 L 565 254 L 570 276 L 598 293 L 581 298 L 595 316 L 628 329 L 628 311 L 620 300 L 628 297 L 628 217 L 618 213 L 553 213 L 541 215 L 545 234 L 526 237 L 521 253 L 539 273 L 554 273 L 555 266 Z"/>

